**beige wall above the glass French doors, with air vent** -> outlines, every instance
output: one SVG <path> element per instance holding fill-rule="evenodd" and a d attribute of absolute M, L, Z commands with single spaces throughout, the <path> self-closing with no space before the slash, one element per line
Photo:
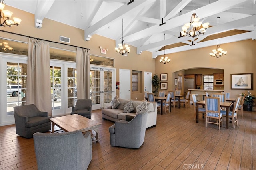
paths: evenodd
<path fill-rule="evenodd" d="M 99 36 L 94 34 L 90 41 L 84 40 L 84 30 L 74 28 L 72 26 L 68 26 L 66 24 L 62 24 L 60 22 L 56 22 L 53 20 L 49 20 L 44 18 L 42 28 L 35 28 L 34 26 L 34 14 L 24 12 L 18 10 L 16 8 L 12 8 L 8 6 L 8 10 L 11 10 L 15 16 L 19 16 L 22 19 L 22 22 L 19 26 L 12 26 L 9 27 L 1 27 L 1 30 L 6 30 L 8 32 L 13 32 L 17 34 L 22 34 L 26 36 L 36 37 L 48 41 L 53 42 L 60 42 L 60 36 L 70 38 L 70 43 L 66 43 L 68 45 L 74 45 L 78 47 L 84 47 L 90 49 L 90 54 L 92 55 L 99 55 L 103 57 L 110 57 L 115 59 L 115 68 L 116 68 L 116 81 L 119 81 L 119 69 L 130 69 L 143 71 L 142 78 L 144 79 L 144 71 L 154 73 L 155 70 L 155 59 L 152 59 L 152 53 L 148 51 L 143 51 L 141 55 L 136 54 L 136 47 L 130 46 L 130 53 L 127 57 L 117 54 L 115 51 L 116 42 L 115 40 Z M 120 30 L 122 31 L 122 30 Z M 14 34 L 8 34 L 4 32 L 0 32 L 0 36 L 4 38 L 11 38 L 14 40 L 22 40 L 27 41 L 28 38 L 23 36 L 17 36 Z M 63 42 L 60 42 L 63 43 Z M 120 43 L 120 42 L 118 42 Z M 66 45 L 58 45 L 58 47 L 64 46 L 67 48 Z M 101 46 L 104 49 L 108 49 L 106 54 L 100 53 Z M 75 50 L 74 47 L 68 47 L 69 49 Z M 134 62 L 136 61 L 136 62 Z M 146 63 L 146 64 L 145 64 Z M 132 75 L 132 72 L 131 72 Z M 144 82 L 143 82 L 144 83 Z M 142 87 L 144 84 L 142 83 Z M 142 88 L 143 89 L 143 88 Z M 119 94 L 119 90 L 116 91 L 116 94 Z M 131 95 L 132 99 L 143 100 L 144 94 L 136 93 Z"/>

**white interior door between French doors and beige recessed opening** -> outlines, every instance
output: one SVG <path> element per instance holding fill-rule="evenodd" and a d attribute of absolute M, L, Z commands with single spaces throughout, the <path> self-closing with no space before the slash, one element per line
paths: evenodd
<path fill-rule="evenodd" d="M 119 69 L 119 97 L 122 99 L 131 99 L 131 71 L 128 69 Z"/>

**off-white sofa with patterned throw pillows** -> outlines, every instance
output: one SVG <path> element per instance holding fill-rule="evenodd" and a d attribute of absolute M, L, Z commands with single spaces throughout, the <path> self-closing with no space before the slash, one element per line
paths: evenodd
<path fill-rule="evenodd" d="M 111 109 L 112 106 L 107 106 L 106 108 L 102 109 L 102 119 L 107 119 L 110 121 L 120 121 L 120 120 L 125 120 L 125 115 L 130 115 L 130 116 L 135 116 L 136 115 L 136 106 L 138 106 L 140 103 L 143 101 L 136 101 L 136 100 L 131 100 L 132 105 L 134 107 L 134 110 L 130 113 L 124 113 L 124 105 L 130 101 L 126 99 L 120 99 L 120 104 L 116 109 Z M 157 103 L 152 103 L 152 102 L 147 102 L 148 104 L 148 117 L 147 117 L 147 123 L 146 123 L 146 128 L 148 127 L 155 127 L 156 126 L 156 115 L 157 115 Z"/>

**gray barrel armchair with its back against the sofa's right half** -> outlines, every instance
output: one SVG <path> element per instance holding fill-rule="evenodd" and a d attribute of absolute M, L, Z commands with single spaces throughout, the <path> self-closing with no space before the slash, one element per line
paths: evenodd
<path fill-rule="evenodd" d="M 131 121 L 120 120 L 109 127 L 111 146 L 140 148 L 144 142 L 148 110 L 137 114 Z"/>

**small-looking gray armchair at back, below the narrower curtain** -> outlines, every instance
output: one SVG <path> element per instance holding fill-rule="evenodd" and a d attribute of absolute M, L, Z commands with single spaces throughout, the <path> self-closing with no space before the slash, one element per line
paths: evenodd
<path fill-rule="evenodd" d="M 92 117 L 92 100 L 91 99 L 79 99 L 76 101 L 76 106 L 72 107 L 72 114 L 78 114 L 83 117 L 91 119 Z"/>

